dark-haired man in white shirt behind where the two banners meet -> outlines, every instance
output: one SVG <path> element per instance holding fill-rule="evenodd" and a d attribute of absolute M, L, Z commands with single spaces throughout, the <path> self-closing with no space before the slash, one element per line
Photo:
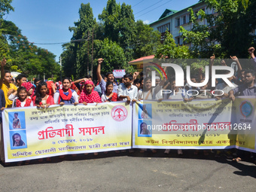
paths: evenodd
<path fill-rule="evenodd" d="M 120 84 L 118 87 L 118 98 L 120 100 L 126 101 L 128 104 L 130 102 L 136 102 L 138 96 L 138 88 L 132 84 L 133 75 L 126 74 L 123 76 L 124 83 Z"/>

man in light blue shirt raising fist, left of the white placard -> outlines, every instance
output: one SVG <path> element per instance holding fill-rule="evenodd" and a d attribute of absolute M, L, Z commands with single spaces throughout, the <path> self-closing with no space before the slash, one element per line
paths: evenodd
<path fill-rule="evenodd" d="M 99 86 L 102 88 L 102 94 L 105 93 L 105 85 L 106 85 L 106 81 L 104 81 L 104 79 L 102 78 L 102 75 L 100 75 L 100 69 L 101 69 L 101 64 L 104 61 L 104 59 L 99 58 L 98 59 L 98 66 L 97 66 L 97 71 L 96 71 L 96 75 L 99 81 Z M 117 84 L 114 84 L 114 74 L 112 72 L 108 72 L 105 77 L 108 79 L 108 81 L 113 82 L 113 92 L 117 93 Z M 132 75 L 133 77 L 133 75 Z"/>

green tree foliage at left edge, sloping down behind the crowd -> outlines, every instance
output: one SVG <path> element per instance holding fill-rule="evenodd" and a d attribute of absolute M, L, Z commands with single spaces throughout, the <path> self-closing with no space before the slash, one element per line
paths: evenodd
<path fill-rule="evenodd" d="M 29 78 L 42 78 L 44 75 L 50 78 L 59 75 L 55 55 L 29 42 L 11 21 L 3 20 L 0 39 L 0 56 L 7 59 L 5 69 L 22 72 Z"/>

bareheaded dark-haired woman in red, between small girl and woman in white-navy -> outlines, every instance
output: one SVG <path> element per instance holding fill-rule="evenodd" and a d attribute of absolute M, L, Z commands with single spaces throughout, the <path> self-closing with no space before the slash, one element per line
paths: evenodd
<path fill-rule="evenodd" d="M 38 108 L 48 108 L 50 105 L 54 105 L 53 96 L 50 96 L 47 93 L 48 93 L 47 83 L 44 81 L 41 81 L 38 84 L 38 87 L 36 87 L 35 96 L 33 98 L 33 101 L 35 102 L 35 106 L 37 106 Z"/>

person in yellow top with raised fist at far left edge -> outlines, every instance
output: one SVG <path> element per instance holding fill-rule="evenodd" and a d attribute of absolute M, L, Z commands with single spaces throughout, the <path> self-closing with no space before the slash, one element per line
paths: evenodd
<path fill-rule="evenodd" d="M 0 87 L 5 93 L 5 108 L 11 108 L 13 102 L 8 99 L 8 96 L 11 93 L 14 93 L 17 90 L 17 87 L 14 84 L 11 84 L 11 72 L 5 71 L 6 59 L 2 59 L 1 62 L 1 78 L 0 78 Z"/>

